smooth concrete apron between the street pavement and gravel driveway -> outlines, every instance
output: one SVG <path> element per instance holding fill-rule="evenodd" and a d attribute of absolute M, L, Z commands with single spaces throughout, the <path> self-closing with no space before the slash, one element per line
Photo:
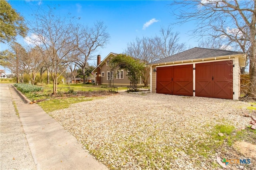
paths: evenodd
<path fill-rule="evenodd" d="M 25 104 L 14 88 L 10 91 L 37 169 L 107 169 L 41 107 Z"/>

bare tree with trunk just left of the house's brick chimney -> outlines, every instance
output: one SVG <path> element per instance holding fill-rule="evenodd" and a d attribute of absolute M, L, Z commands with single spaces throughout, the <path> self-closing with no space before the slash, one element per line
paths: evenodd
<path fill-rule="evenodd" d="M 85 84 L 88 60 L 92 59 L 99 48 L 104 48 L 107 45 L 110 35 L 102 21 L 97 21 L 92 27 L 79 25 L 73 30 L 73 35 L 76 38 L 76 50 L 79 52 L 75 62 L 82 70 Z"/>

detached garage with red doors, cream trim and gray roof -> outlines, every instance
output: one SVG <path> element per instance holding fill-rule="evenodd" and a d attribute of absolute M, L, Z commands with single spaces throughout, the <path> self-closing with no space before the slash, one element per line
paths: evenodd
<path fill-rule="evenodd" d="M 238 100 L 246 54 L 194 47 L 149 63 L 152 93 Z"/>

